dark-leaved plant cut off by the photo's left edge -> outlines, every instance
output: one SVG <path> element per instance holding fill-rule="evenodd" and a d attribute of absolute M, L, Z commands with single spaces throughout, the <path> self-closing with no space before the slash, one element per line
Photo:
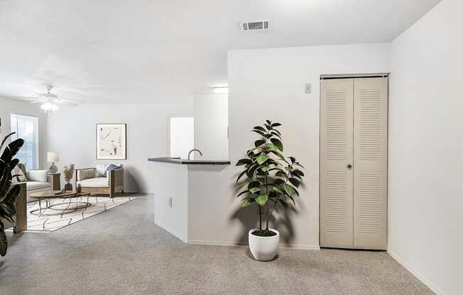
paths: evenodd
<path fill-rule="evenodd" d="M 0 121 L 1 128 L 1 121 Z M 4 140 L 0 144 L 0 152 L 6 143 L 6 140 L 13 135 L 10 133 L 6 135 Z M 18 138 L 13 140 L 9 145 L 6 145 L 4 151 L 0 156 L 0 255 L 5 256 L 6 250 L 8 247 L 8 240 L 6 240 L 5 234 L 5 225 L 1 218 L 4 218 L 11 223 L 14 223 L 13 216 L 16 215 L 16 207 L 14 203 L 19 196 L 19 186 L 11 186 L 11 179 L 16 175 L 11 175 L 11 170 L 13 170 L 16 165 L 18 165 L 19 160 L 13 159 L 18 150 L 23 146 L 24 140 Z"/>

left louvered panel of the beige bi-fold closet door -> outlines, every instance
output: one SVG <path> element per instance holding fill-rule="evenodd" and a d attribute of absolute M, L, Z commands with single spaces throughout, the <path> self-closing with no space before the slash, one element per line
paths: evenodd
<path fill-rule="evenodd" d="M 353 247 L 353 80 L 322 80 L 320 245 Z"/>

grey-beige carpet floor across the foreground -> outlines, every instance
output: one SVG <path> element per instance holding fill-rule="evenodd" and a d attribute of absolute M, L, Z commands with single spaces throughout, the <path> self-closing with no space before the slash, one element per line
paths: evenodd
<path fill-rule="evenodd" d="M 153 223 L 153 195 L 51 233 L 11 236 L 0 294 L 396 294 L 430 289 L 386 252 L 187 245 Z"/>

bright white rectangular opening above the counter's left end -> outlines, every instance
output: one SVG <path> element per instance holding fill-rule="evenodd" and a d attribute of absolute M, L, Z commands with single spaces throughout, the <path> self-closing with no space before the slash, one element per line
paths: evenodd
<path fill-rule="evenodd" d="M 192 116 L 170 117 L 170 157 L 187 159 L 195 147 L 195 118 Z M 191 157 L 194 159 L 193 155 Z"/>

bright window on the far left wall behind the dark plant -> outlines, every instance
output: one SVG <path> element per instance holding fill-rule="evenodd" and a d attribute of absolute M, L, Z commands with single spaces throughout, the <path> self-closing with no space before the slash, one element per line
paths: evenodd
<path fill-rule="evenodd" d="M 16 157 L 26 164 L 27 169 L 38 169 L 38 118 L 33 116 L 11 114 L 11 140 L 22 138 L 24 145 Z"/>

